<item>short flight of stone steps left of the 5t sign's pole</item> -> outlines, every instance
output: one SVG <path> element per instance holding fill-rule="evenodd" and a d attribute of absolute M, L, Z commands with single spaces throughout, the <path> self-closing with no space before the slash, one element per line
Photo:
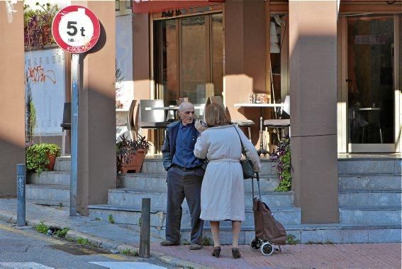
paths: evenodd
<path fill-rule="evenodd" d="M 69 206 L 69 157 L 58 157 L 53 171 L 27 175 L 26 199 L 35 204 Z"/>

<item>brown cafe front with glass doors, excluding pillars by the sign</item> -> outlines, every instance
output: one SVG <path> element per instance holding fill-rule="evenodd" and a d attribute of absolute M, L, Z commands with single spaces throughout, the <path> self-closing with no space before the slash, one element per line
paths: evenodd
<path fill-rule="evenodd" d="M 259 109 L 235 104 L 290 95 L 304 223 L 338 221 L 338 153 L 401 152 L 401 1 L 135 1 L 133 13 L 135 99 L 221 96 L 232 119 L 255 121 L 258 145 Z"/>

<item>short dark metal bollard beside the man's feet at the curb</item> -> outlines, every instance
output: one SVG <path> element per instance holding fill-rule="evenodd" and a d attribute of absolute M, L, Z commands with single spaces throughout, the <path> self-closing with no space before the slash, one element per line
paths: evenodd
<path fill-rule="evenodd" d="M 141 207 L 140 253 L 141 258 L 150 258 L 151 199 L 143 198 Z"/>

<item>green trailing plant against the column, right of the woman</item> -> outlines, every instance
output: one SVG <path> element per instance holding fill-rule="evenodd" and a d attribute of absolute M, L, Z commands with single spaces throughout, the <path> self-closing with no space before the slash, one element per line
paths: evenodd
<path fill-rule="evenodd" d="M 291 190 L 291 152 L 289 136 L 279 141 L 278 148 L 272 153 L 271 158 L 277 161 L 275 167 L 279 174 L 279 185 L 275 191 L 289 192 Z"/>

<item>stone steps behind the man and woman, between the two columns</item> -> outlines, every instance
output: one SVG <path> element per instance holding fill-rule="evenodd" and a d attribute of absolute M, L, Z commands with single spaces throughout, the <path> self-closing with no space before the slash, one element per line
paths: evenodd
<path fill-rule="evenodd" d="M 262 199 L 269 204 L 275 218 L 282 224 L 299 225 L 301 210 L 293 206 L 294 193 L 274 192 L 274 188 L 279 183 L 277 173 L 272 169 L 272 161 L 265 159 L 263 163 L 260 173 Z M 108 215 L 112 215 L 116 223 L 138 225 L 140 224 L 142 198 L 149 197 L 151 198 L 152 234 L 163 238 L 166 224 L 167 184 L 162 160 L 160 158 L 145 159 L 141 172 L 121 177 L 120 185 L 121 187 L 118 189 L 108 190 L 108 204 L 89 206 L 90 215 L 104 220 L 108 219 Z M 257 191 L 256 182 L 255 190 Z M 255 236 L 251 180 L 245 181 L 245 192 L 246 220 L 242 223 L 241 243 L 247 243 L 246 240 L 252 240 Z M 191 231 L 191 217 L 186 200 L 184 200 L 182 208 L 182 238 L 188 240 Z M 223 243 L 230 243 L 230 221 L 221 221 L 220 227 L 223 230 L 220 235 Z M 208 221 L 204 225 L 204 236 L 211 238 Z"/>

